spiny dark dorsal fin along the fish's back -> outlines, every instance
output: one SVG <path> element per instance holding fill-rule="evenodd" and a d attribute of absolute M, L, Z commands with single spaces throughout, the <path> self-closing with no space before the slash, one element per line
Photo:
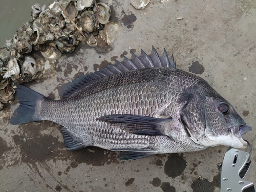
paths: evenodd
<path fill-rule="evenodd" d="M 152 51 L 150 55 L 147 55 L 143 50 L 141 50 L 140 56 L 137 56 L 135 55 L 135 53 L 132 52 L 131 59 L 124 56 L 122 61 L 115 60 L 114 65 L 109 64 L 107 67 L 101 68 L 99 71 L 95 71 L 94 73 L 89 73 L 76 78 L 74 81 L 69 83 L 61 96 L 62 98 L 67 98 L 72 93 L 86 86 L 92 81 L 100 79 L 102 77 L 111 76 L 116 73 L 122 73 L 143 68 L 170 67 L 176 69 L 174 56 L 172 55 L 172 58 L 169 60 L 165 49 L 162 56 L 159 56 L 156 49 L 152 46 Z"/>

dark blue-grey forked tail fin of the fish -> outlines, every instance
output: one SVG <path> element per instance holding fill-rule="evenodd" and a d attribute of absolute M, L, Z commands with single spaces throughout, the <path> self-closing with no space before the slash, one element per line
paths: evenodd
<path fill-rule="evenodd" d="M 16 85 L 16 93 L 20 105 L 14 111 L 13 116 L 10 120 L 11 124 L 22 124 L 31 121 L 40 121 L 35 114 L 36 101 L 45 96 L 25 87 Z"/>

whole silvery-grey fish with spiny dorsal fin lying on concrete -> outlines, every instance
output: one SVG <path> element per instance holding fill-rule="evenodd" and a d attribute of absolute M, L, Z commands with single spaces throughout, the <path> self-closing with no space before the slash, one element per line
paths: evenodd
<path fill-rule="evenodd" d="M 11 124 L 53 121 L 67 150 L 97 146 L 122 161 L 210 146 L 245 148 L 252 131 L 234 107 L 203 78 L 176 68 L 156 49 L 116 60 L 72 81 L 60 100 L 17 85 Z"/>

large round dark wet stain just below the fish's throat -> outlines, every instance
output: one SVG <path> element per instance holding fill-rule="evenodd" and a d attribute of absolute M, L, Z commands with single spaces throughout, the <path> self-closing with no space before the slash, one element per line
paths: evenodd
<path fill-rule="evenodd" d="M 170 154 L 164 164 L 164 173 L 173 179 L 180 176 L 186 168 L 186 161 L 179 154 Z"/>

